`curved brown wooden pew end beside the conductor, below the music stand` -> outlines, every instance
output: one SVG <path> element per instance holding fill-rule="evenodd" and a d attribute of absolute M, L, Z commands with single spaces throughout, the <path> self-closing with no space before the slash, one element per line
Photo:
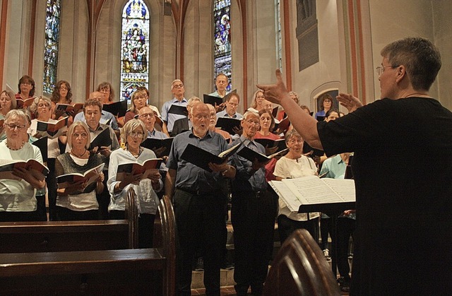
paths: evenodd
<path fill-rule="evenodd" d="M 295 230 L 281 246 L 263 295 L 340 295 L 323 252 L 307 230 Z"/>

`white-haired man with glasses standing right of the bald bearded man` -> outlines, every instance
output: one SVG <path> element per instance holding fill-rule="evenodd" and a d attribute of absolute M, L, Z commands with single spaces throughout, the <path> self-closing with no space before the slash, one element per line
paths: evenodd
<path fill-rule="evenodd" d="M 258 114 L 245 112 L 241 124 L 242 136 L 230 146 L 242 142 L 251 150 L 265 154 L 265 148 L 254 141 L 260 124 Z M 247 295 L 250 286 L 251 294 L 262 294 L 273 251 L 278 196 L 267 190 L 266 163 L 251 162 L 237 153 L 230 158 L 230 164 L 237 169 L 232 180 L 231 221 L 234 227 L 235 291 L 239 296 Z"/>

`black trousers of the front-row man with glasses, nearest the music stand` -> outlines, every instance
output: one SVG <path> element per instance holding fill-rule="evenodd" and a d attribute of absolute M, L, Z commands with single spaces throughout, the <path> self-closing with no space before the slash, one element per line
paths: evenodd
<path fill-rule="evenodd" d="M 273 233 L 278 196 L 270 191 L 233 192 L 231 221 L 234 227 L 234 280 L 237 295 L 261 295 L 273 254 Z"/>

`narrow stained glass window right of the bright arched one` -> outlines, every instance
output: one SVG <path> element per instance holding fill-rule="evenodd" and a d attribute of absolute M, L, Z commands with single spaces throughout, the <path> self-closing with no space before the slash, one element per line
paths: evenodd
<path fill-rule="evenodd" d="M 232 90 L 232 55 L 231 55 L 231 26 L 230 26 L 231 0 L 215 0 L 213 6 L 215 45 L 213 53 L 214 72 L 216 77 L 219 73 L 224 73 L 228 80 L 226 90 Z"/>

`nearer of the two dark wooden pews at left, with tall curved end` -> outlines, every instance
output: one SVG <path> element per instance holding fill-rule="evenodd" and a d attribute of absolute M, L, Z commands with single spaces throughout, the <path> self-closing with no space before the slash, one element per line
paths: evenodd
<path fill-rule="evenodd" d="M 175 295 L 175 222 L 166 196 L 159 212 L 161 245 L 153 249 L 0 254 L 0 295 Z"/>

